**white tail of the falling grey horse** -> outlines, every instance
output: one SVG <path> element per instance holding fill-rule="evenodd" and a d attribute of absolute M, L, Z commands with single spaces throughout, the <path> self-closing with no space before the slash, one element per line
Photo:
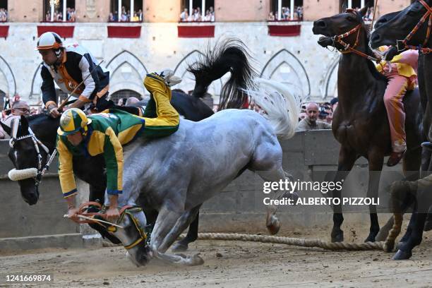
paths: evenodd
<path fill-rule="evenodd" d="M 256 79 L 257 85 L 245 90 L 251 96 L 251 103 L 258 105 L 265 119 L 284 138 L 294 136 L 301 108 L 301 97 L 290 92 L 287 85 Z"/>

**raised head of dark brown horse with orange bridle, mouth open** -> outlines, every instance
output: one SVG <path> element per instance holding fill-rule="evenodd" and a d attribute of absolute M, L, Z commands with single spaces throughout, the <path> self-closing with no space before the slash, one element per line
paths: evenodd
<path fill-rule="evenodd" d="M 338 37 L 352 48 L 363 46 L 366 39 L 365 33 L 362 33 L 361 30 L 366 31 L 366 28 L 362 18 L 367 11 L 367 7 L 361 8 L 359 11 L 347 9 L 344 13 L 316 20 L 313 23 L 313 34 L 324 35 L 324 37 L 320 37 L 318 44 L 323 47 L 333 46 L 336 49 L 344 50 L 342 44 L 335 42 Z"/>

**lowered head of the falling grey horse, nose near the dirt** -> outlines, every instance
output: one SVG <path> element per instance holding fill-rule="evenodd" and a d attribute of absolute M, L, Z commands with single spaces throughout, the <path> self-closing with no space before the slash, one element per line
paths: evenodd
<path fill-rule="evenodd" d="M 150 234 L 145 232 L 147 220 L 143 210 L 138 207 L 125 210 L 117 224 L 124 228 L 107 227 L 108 231 L 116 236 L 124 248 L 126 256 L 137 266 L 144 266 L 152 257 L 148 246 Z"/>

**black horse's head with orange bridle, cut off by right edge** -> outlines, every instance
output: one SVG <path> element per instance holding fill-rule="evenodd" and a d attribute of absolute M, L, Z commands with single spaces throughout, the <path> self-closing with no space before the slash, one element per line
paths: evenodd
<path fill-rule="evenodd" d="M 386 14 L 381 17 L 375 30 L 372 32 L 369 45 L 372 49 L 387 45 L 403 47 L 402 41 L 407 39 L 411 34 L 410 39 L 407 39 L 406 44 L 413 46 L 428 46 L 428 20 L 430 19 L 432 10 L 432 0 L 414 1 L 404 10 Z M 382 20 L 383 18 L 383 20 Z M 421 21 L 424 21 L 423 23 Z M 417 26 L 417 24 L 419 24 Z M 390 57 L 387 57 L 388 59 Z"/>

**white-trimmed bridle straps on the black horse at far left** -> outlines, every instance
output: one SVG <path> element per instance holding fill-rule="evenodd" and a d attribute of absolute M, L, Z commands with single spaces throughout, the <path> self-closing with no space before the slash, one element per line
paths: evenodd
<path fill-rule="evenodd" d="M 35 146 L 35 150 L 37 153 L 37 174 L 35 176 L 35 186 L 39 186 L 40 182 L 42 181 L 42 176 L 44 176 L 45 172 L 47 172 L 49 165 L 52 163 L 54 157 L 56 156 L 56 150 L 54 149 L 52 154 L 49 154 L 49 149 L 47 148 L 47 146 L 45 146 L 44 143 L 42 143 L 42 141 L 35 136 L 35 133 L 33 133 L 30 127 L 28 128 L 28 135 L 16 137 L 17 133 L 18 133 L 18 123 L 14 123 L 12 128 L 12 135 L 11 135 L 12 138 L 11 140 L 9 140 L 9 146 L 11 146 L 11 148 L 14 148 L 16 142 L 27 138 L 32 139 L 33 145 Z M 47 162 L 43 166 L 42 166 L 42 155 L 40 154 L 39 146 L 42 147 L 42 149 L 47 153 Z"/>

